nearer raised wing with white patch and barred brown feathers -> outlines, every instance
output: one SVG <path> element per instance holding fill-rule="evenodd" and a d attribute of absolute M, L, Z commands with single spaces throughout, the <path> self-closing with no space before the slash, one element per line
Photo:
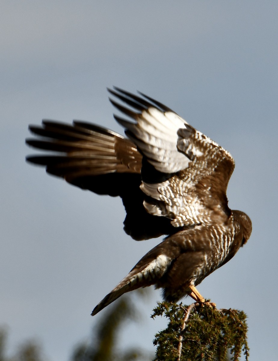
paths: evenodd
<path fill-rule="evenodd" d="M 109 92 L 128 107 L 110 99 L 112 104 L 133 119 L 114 116 L 143 154 L 140 188 L 149 197 L 147 212 L 170 218 L 174 227 L 226 217 L 230 153 L 156 100 L 119 88 Z"/>

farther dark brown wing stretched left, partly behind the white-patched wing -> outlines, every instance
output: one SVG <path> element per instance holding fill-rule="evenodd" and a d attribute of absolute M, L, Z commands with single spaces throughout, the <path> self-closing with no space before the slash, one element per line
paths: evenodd
<path fill-rule="evenodd" d="M 29 129 L 36 138 L 26 143 L 49 155 L 28 156 L 27 161 L 45 166 L 48 173 L 82 189 L 120 196 L 126 209 L 125 231 L 132 238 L 143 240 L 170 233 L 170 220 L 153 217 L 143 206 L 145 194 L 139 188 L 142 155 L 129 139 L 81 121 L 66 125 L 44 120 L 42 126 L 30 125 Z"/>

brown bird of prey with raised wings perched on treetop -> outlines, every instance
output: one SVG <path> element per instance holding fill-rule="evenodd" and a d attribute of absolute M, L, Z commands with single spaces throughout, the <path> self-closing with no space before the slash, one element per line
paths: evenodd
<path fill-rule="evenodd" d="M 155 285 L 166 301 L 189 295 L 229 261 L 251 235 L 249 217 L 228 207 L 234 159 L 173 110 L 139 93 L 113 88 L 114 118 L 126 137 L 99 125 L 44 120 L 30 125 L 32 147 L 55 152 L 28 156 L 50 174 L 98 194 L 120 196 L 124 229 L 135 240 L 165 235 L 94 308 L 95 315 L 123 293 Z M 117 99 L 117 101 L 115 100 Z"/>

